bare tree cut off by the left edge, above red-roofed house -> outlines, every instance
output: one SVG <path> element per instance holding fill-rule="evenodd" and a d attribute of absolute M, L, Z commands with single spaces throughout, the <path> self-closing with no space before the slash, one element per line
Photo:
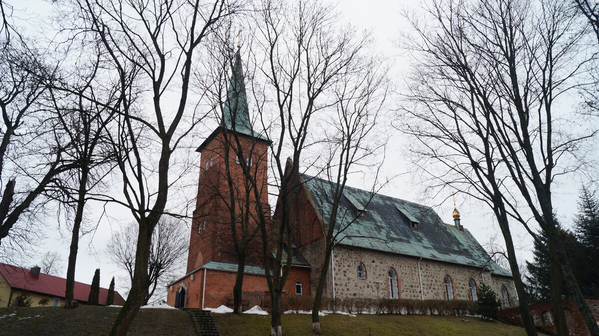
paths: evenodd
<path fill-rule="evenodd" d="M 64 160 L 71 143 L 55 129 L 55 120 L 46 109 L 49 87 L 58 80 L 56 65 L 46 62 L 43 51 L 34 48 L 35 41 L 20 35 L 2 44 L 0 242 L 6 257 L 11 249 L 22 255 L 40 236 L 33 225 L 47 207 L 38 197 L 74 164 Z"/>

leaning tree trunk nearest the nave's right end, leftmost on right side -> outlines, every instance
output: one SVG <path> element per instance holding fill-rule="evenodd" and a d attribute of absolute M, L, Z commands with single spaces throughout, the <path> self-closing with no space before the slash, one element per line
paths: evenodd
<path fill-rule="evenodd" d="M 510 233 L 509 221 L 507 220 L 505 209 L 497 209 L 496 215 L 497 222 L 501 228 L 501 233 L 503 234 L 503 238 L 506 242 L 507 260 L 510 263 L 510 268 L 512 268 L 514 285 L 516 286 L 516 292 L 518 293 L 518 298 L 520 301 L 518 308 L 520 310 L 522 324 L 524 325 L 524 329 L 526 330 L 528 336 L 536 336 L 537 329 L 534 328 L 534 320 L 530 316 L 530 310 L 528 309 L 528 293 L 524 289 L 524 283 L 522 283 L 522 276 L 520 274 L 520 269 L 518 268 L 518 261 L 516 260 L 516 252 L 514 251 L 512 233 Z"/>

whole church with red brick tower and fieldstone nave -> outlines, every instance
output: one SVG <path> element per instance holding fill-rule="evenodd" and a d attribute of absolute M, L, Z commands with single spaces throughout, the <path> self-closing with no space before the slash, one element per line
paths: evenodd
<path fill-rule="evenodd" d="M 222 124 L 196 150 L 201 167 L 187 271 L 167 286 L 167 304 L 177 308 L 231 304 L 238 269 L 232 234 L 251 234 L 255 228 L 250 223 L 233 233 L 231 222 L 237 219 L 231 206 L 252 218 L 254 202 L 268 204 L 270 140 L 252 129 L 239 51 L 223 111 Z M 242 160 L 261 186 L 259 197 L 245 192 L 240 157 L 228 148 L 232 132 L 235 145 L 247 152 Z M 308 175 L 298 179 L 301 188 L 291 207 L 294 255 L 284 295 L 304 297 L 316 290 L 331 202 L 328 181 Z M 446 224 L 431 207 L 345 187 L 337 222 L 347 229 L 332 250 L 325 297 L 476 300 L 477 288 L 485 284 L 498 294 L 502 307 L 517 306 L 512 274 L 489 258 L 461 224 L 457 209 L 451 215 L 453 224 Z M 264 265 L 259 239 L 258 234 L 247 246 L 244 309 L 268 306 L 265 271 L 270 267 Z"/>

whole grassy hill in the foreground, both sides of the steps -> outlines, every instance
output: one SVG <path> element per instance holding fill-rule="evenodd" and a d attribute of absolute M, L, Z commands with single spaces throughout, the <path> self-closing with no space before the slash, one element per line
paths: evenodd
<path fill-rule="evenodd" d="M 117 307 L 0 308 L 0 335 L 107 335 L 117 313 Z M 270 316 L 213 316 L 223 335 L 270 334 Z M 320 321 L 323 335 L 525 335 L 522 328 L 475 317 L 329 314 Z M 194 335 L 195 328 L 186 311 L 142 309 L 129 334 Z M 283 315 L 283 334 L 312 335 L 310 315 Z"/>

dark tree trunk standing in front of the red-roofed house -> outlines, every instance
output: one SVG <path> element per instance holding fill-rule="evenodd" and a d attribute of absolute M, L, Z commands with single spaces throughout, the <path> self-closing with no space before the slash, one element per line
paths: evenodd
<path fill-rule="evenodd" d="M 85 195 L 87 188 L 87 176 L 89 169 L 87 166 L 81 166 L 81 180 L 79 181 L 77 210 L 75 210 L 75 220 L 71 234 L 71 247 L 69 249 L 69 261 L 66 267 L 66 291 L 65 307 L 73 308 L 72 301 L 75 299 L 75 264 L 77 264 L 77 251 L 79 249 L 79 228 L 83 221 L 83 209 L 85 207 Z"/>

